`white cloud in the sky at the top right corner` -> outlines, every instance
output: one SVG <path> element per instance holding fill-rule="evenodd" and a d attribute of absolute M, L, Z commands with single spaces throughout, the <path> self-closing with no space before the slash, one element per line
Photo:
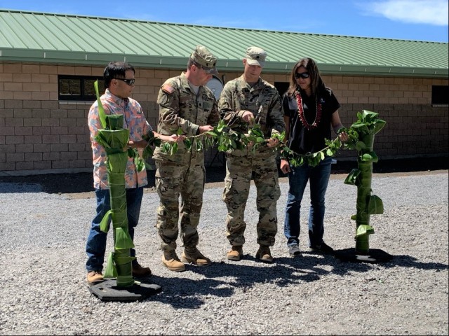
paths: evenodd
<path fill-rule="evenodd" d="M 387 0 L 360 3 L 359 6 L 393 21 L 448 25 L 448 0 Z"/>

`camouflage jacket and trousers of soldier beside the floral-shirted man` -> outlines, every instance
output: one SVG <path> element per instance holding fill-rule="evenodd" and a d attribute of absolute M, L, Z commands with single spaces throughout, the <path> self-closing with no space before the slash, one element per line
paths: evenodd
<path fill-rule="evenodd" d="M 220 115 L 213 92 L 200 86 L 198 94 L 189 85 L 185 73 L 169 78 L 161 86 L 157 98 L 159 104 L 160 134 L 177 134 L 182 130 L 185 136 L 196 135 L 203 125 L 217 125 Z M 192 144 L 192 148 L 195 148 Z M 153 156 L 156 163 L 156 188 L 160 204 L 156 214 L 156 225 L 161 237 L 163 251 L 175 250 L 179 232 L 179 196 L 182 197 L 181 237 L 184 246 L 198 244 L 199 216 L 203 205 L 205 182 L 204 153 L 191 153 L 184 144 L 179 144 L 177 153 L 162 153 L 158 147 Z"/>

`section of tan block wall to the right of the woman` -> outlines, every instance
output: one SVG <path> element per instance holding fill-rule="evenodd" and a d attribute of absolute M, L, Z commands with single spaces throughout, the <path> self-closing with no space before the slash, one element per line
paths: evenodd
<path fill-rule="evenodd" d="M 375 136 L 374 151 L 382 159 L 448 155 L 448 106 L 432 106 L 432 85 L 447 79 L 323 76 L 342 109 L 343 125 L 356 121 L 357 111 L 379 113 L 387 125 Z M 341 158 L 354 157 L 340 151 Z"/>

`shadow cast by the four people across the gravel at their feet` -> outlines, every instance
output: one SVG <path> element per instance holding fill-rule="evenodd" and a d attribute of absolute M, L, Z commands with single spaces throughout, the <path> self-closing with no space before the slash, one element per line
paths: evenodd
<path fill-rule="evenodd" d="M 344 276 L 348 272 L 363 273 L 378 267 L 364 262 L 342 262 L 331 255 L 318 255 L 312 252 L 304 252 L 301 258 L 276 258 L 271 265 L 263 264 L 251 255 L 245 255 L 244 260 L 254 261 L 254 266 L 241 265 L 239 262 L 216 262 L 210 267 L 187 265 L 186 272 L 195 272 L 206 277 L 201 281 L 153 275 L 150 278 L 152 283 L 162 286 L 162 292 L 147 300 L 170 304 L 174 308 L 199 309 L 203 304 L 207 304 L 207 299 L 231 297 L 236 290 L 241 290 L 248 295 L 257 295 L 257 283 L 272 283 L 272 290 L 276 290 L 276 287 L 317 281 L 328 274 Z M 448 265 L 439 262 L 420 262 L 410 255 L 394 255 L 390 262 L 377 265 L 385 268 L 401 266 L 437 272 L 448 269 Z M 330 271 L 323 269 L 329 266 L 332 267 Z M 229 280 L 220 279 L 223 276 Z M 383 283 L 388 279 L 367 277 L 364 281 Z M 207 299 L 201 300 L 199 295 Z"/>

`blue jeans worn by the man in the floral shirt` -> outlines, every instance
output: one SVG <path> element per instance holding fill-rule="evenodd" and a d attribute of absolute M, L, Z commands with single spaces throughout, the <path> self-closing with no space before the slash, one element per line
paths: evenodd
<path fill-rule="evenodd" d="M 102 271 L 103 262 L 105 261 L 106 239 L 107 233 L 100 230 L 100 222 L 111 209 L 109 199 L 109 189 L 95 189 L 95 196 L 97 197 L 97 214 L 93 218 L 91 231 L 89 232 L 86 253 L 88 260 L 86 262 L 87 272 Z M 128 212 L 128 232 L 131 239 L 134 240 L 134 228 L 138 225 L 140 215 L 140 204 L 142 204 L 143 188 L 126 189 L 126 202 Z M 109 221 L 109 224 L 111 222 Z M 108 224 L 108 225 L 109 225 Z M 131 248 L 130 255 L 135 257 L 135 249 Z M 135 265 L 137 261 L 133 260 Z"/>

